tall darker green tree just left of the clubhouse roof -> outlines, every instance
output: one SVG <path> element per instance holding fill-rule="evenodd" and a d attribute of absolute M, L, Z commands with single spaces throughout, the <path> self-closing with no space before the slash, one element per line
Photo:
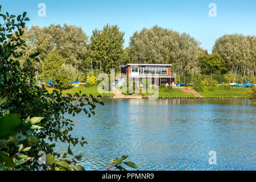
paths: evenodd
<path fill-rule="evenodd" d="M 93 68 L 101 65 L 102 71 L 110 73 L 110 69 L 119 70 L 119 64 L 123 55 L 123 43 L 125 40 L 118 26 L 107 24 L 103 30 L 94 30 L 88 45 L 88 63 L 93 63 Z"/>

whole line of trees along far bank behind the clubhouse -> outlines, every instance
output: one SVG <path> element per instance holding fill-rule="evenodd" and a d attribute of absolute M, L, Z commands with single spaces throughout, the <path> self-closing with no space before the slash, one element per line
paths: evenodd
<path fill-rule="evenodd" d="M 173 64 L 179 75 L 225 74 L 242 67 L 255 72 L 256 38 L 254 35 L 224 35 L 218 38 L 212 54 L 200 47 L 200 42 L 187 33 L 154 26 L 134 32 L 128 47 L 124 47 L 125 32 L 117 25 L 106 24 L 93 30 L 90 38 L 81 27 L 51 24 L 48 27 L 24 28 L 27 51 L 20 59 L 40 52 L 37 63 L 40 80 L 62 78 L 85 81 L 89 75 L 119 71 L 127 63 Z M 64 74 L 65 73 L 65 74 Z"/>

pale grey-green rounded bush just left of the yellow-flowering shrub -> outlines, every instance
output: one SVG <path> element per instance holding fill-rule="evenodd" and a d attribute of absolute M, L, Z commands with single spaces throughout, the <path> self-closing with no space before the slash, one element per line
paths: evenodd
<path fill-rule="evenodd" d="M 63 64 L 61 68 L 56 72 L 53 79 L 55 87 L 60 90 L 72 88 L 73 78 L 76 76 L 75 68 L 71 68 L 70 65 Z"/>

